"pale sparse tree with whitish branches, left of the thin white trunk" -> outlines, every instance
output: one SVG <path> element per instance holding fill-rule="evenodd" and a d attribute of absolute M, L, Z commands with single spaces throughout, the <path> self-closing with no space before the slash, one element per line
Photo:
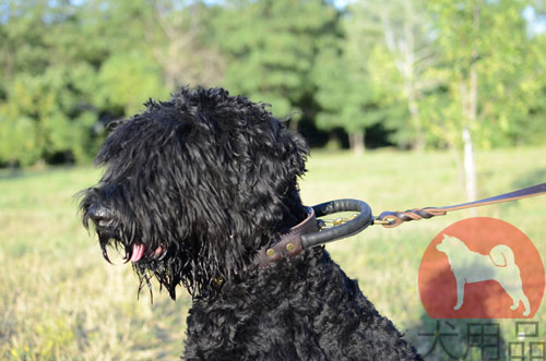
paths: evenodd
<path fill-rule="evenodd" d="M 436 62 L 432 23 L 424 2 L 358 1 L 349 10 L 355 19 L 351 33 L 360 38 L 363 61 L 368 62 L 375 87 L 381 87 L 399 106 L 406 107 L 405 115 L 391 120 L 397 130 L 396 143 L 423 149 L 427 125 L 420 103 L 434 86 L 426 75 Z"/>

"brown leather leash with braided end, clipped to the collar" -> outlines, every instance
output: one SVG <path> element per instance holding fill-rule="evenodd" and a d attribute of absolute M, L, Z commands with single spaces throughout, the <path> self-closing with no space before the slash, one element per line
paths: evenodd
<path fill-rule="evenodd" d="M 483 205 L 489 205 L 501 202 L 517 201 L 541 194 L 546 194 L 546 183 L 533 185 L 515 192 L 496 195 L 479 201 L 462 203 L 446 207 L 414 208 L 405 212 L 383 212 L 379 215 L 379 217 L 375 218 L 373 224 L 382 225 L 385 228 L 393 228 L 402 225 L 404 221 L 419 220 L 423 218 L 427 219 L 436 216 L 444 216 L 448 212 L 451 210 L 479 207 Z"/>

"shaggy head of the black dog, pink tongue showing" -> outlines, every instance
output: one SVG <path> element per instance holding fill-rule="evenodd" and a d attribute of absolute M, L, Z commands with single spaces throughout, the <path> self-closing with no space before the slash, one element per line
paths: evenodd
<path fill-rule="evenodd" d="M 116 123 L 96 157 L 105 173 L 83 192 L 83 224 L 103 254 L 126 254 L 144 284 L 175 298 L 237 277 L 288 228 L 307 145 L 263 104 L 221 88 L 182 88 Z M 298 215 L 296 215 L 298 216 Z"/>

